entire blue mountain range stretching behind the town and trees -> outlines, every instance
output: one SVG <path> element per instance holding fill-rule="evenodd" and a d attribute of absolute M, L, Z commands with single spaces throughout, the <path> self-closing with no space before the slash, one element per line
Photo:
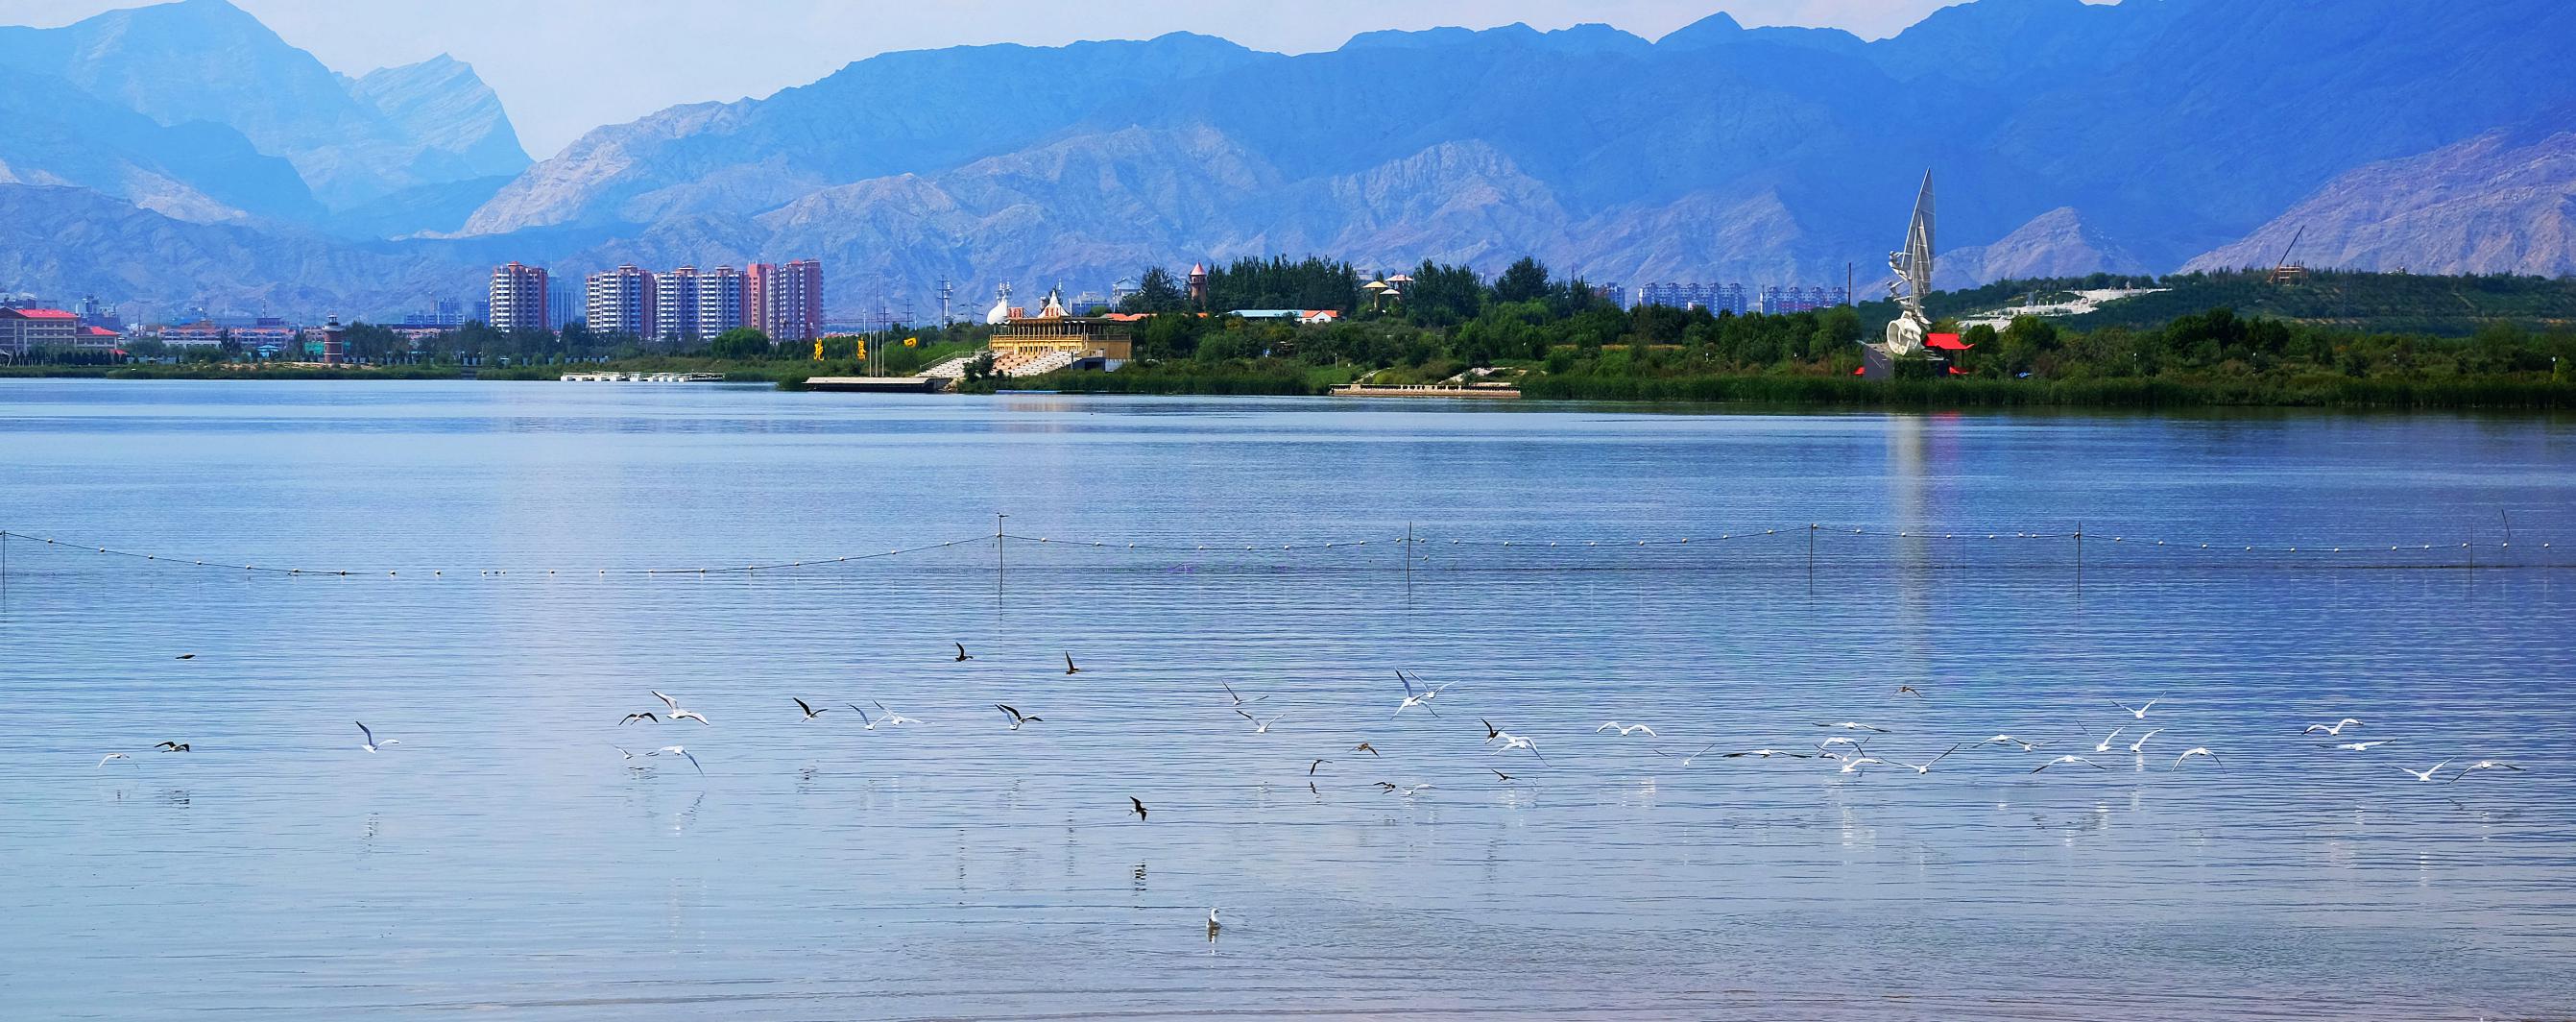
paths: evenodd
<path fill-rule="evenodd" d="M 855 314 L 1306 252 L 1868 286 L 1924 167 L 1942 286 L 2269 263 L 2300 232 L 2313 265 L 2563 275 L 2571 39 L 2563 0 L 1976 0 L 1880 41 L 1716 13 L 1654 41 L 956 46 L 531 162 L 461 62 L 345 77 L 183 0 L 0 28 L 0 209 L 93 227 L 0 229 L 59 250 L 0 260 L 0 291 L 374 314 L 492 260 L 822 257 Z"/>

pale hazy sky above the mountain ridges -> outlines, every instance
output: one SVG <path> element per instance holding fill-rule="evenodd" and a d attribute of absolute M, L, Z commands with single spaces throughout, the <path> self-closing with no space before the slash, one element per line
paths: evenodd
<path fill-rule="evenodd" d="M 1334 49 L 1373 28 L 1564 28 L 1646 39 L 1716 10 L 1747 26 L 1891 36 L 1955 0 L 234 0 L 289 44 L 363 75 L 440 51 L 492 82 L 538 160 L 600 124 L 672 103 L 768 95 L 891 49 L 1064 44 L 1167 31 L 1273 51 Z M 62 26 L 131 0 L 0 0 L 0 23 Z"/>

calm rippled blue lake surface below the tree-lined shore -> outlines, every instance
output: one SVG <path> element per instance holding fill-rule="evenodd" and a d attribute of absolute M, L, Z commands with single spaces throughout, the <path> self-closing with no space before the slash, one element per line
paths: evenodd
<path fill-rule="evenodd" d="M 0 381 L 0 528 L 162 556 L 8 541 L 8 1019 L 2576 1014 L 2553 420 Z"/>

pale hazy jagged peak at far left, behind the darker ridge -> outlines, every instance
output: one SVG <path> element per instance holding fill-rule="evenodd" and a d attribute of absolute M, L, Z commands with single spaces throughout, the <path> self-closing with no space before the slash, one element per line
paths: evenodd
<path fill-rule="evenodd" d="M 294 162 L 332 209 L 526 167 L 507 118 L 464 64 L 415 64 L 353 88 L 224 0 L 0 28 L 0 67 L 57 77 L 160 124 L 229 126 Z"/>

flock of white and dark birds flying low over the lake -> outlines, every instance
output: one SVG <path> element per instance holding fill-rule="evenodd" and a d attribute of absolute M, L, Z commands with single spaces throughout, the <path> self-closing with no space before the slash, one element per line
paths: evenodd
<path fill-rule="evenodd" d="M 963 662 L 976 659 L 974 654 L 966 651 L 966 644 L 953 644 L 953 646 L 956 646 L 953 662 L 963 664 Z M 196 659 L 196 654 L 180 654 L 178 659 Z M 1074 662 L 1074 656 L 1064 654 L 1064 674 L 1072 677 L 1072 674 L 1082 674 L 1082 672 L 1084 669 Z M 1406 711 L 1419 711 L 1425 716 L 1437 718 L 1440 711 L 1435 708 L 1435 700 L 1443 692 L 1455 690 L 1455 685 L 1432 685 L 1432 682 L 1425 682 L 1422 677 L 1409 674 L 1404 669 L 1396 669 L 1396 682 L 1404 687 L 1404 695 L 1396 698 L 1391 718 L 1404 718 Z M 1270 734 L 1273 726 L 1278 726 L 1280 721 L 1288 718 L 1288 713 L 1257 716 L 1252 711 L 1257 703 L 1267 700 L 1270 695 L 1249 695 L 1247 698 L 1247 695 L 1236 692 L 1231 682 L 1224 682 L 1224 680 L 1218 682 L 1218 690 L 1224 692 L 1226 708 L 1234 716 L 1242 716 L 1244 723 L 1252 726 L 1252 734 Z M 1388 692 L 1388 695 L 1394 695 L 1394 692 Z M 1917 698 L 1917 700 L 1927 700 L 1927 695 L 1919 687 L 1914 687 L 1914 685 L 1899 685 L 1896 695 L 1899 698 L 1909 695 L 1909 698 Z M 698 713 L 693 708 L 680 705 L 680 698 L 675 698 L 675 695 L 652 690 L 652 698 L 662 703 L 659 711 L 626 713 L 618 721 L 618 726 L 629 726 L 629 723 L 670 726 L 670 723 L 688 723 L 688 721 L 693 721 L 698 726 L 711 726 L 714 723 L 714 721 L 706 718 L 706 713 Z M 796 698 L 796 695 L 791 695 L 788 703 L 796 705 L 796 713 L 799 713 L 799 718 L 804 723 L 814 723 L 824 713 L 835 711 L 835 708 L 827 708 L 827 705 L 806 703 L 804 698 Z M 1450 700 L 1450 705 L 1453 703 L 1455 700 Z M 1806 744 L 1806 747 L 1757 747 L 1757 749 L 1718 752 L 1718 747 L 1723 741 L 1710 741 L 1710 744 L 1700 747 L 1698 752 L 1687 752 L 1687 754 L 1677 754 L 1677 752 L 1667 752 L 1667 749 L 1651 749 L 1651 752 L 1656 757 L 1664 757 L 1664 759 L 1677 759 L 1682 767 L 1690 767 L 1690 765 L 1695 765 L 1695 762 L 1716 754 L 1718 759 L 1814 759 L 1814 762 L 1821 762 L 1821 765 L 1832 765 L 1832 770 L 1839 772 L 1839 775 L 1862 775 L 1865 770 L 1886 767 L 1886 770 L 1911 770 L 1917 777 L 1922 777 L 1922 775 L 1929 775 L 1932 767 L 1937 767 L 1940 762 L 1950 759 L 1953 754 L 1971 752 L 1971 749 L 1986 749 L 1986 747 L 2002 747 L 2004 752 L 2012 752 L 2012 754 L 2032 754 L 2032 757 L 2045 754 L 2045 759 L 2040 759 L 2035 767 L 2030 767 L 2032 775 L 2048 772 L 2048 770 L 2076 770 L 2076 767 L 2110 770 L 2107 765 L 2102 765 L 2094 757 L 2107 757 L 2115 749 L 2125 749 L 2125 752 L 2130 752 L 2136 757 L 2136 765 L 2143 767 L 2146 765 L 2146 754 L 2148 754 L 2146 752 L 2148 741 L 2154 741 L 2159 734 L 2172 731 L 2172 726 L 2164 726 L 2169 721 L 2169 716 L 2156 716 L 2154 721 L 2148 718 L 2148 713 L 2159 703 L 2164 703 L 2164 698 L 2159 695 L 2159 698 L 2138 703 L 2138 705 L 2128 705 L 2123 700 L 2110 700 L 2110 703 L 2117 705 L 2128 716 L 2128 721 L 2120 723 L 2120 726 L 2115 726 L 2115 729 L 2110 729 L 2110 734 L 2105 734 L 2099 741 L 2092 741 L 2089 747 L 2084 747 L 2081 741 L 2076 741 L 2071 749 L 2063 741 L 2022 739 L 2022 736 L 2014 736 L 2014 734 L 1996 734 L 1996 736 L 1976 739 L 1976 741 L 1963 739 L 1963 741 L 1950 744 L 1947 749 L 1940 749 L 1932 757 L 1922 757 L 1919 762 L 1911 762 L 1911 759 L 1899 759 L 1893 752 L 1873 749 L 1873 741 L 1880 741 L 1880 739 L 1896 734 L 1893 729 L 1886 729 L 1886 726 L 1878 726 L 1878 723 L 1862 723 L 1862 721 L 1819 721 L 1814 726 L 1824 729 L 1824 731 L 1832 731 L 1832 734 L 1826 734 L 1824 739 L 1819 739 L 1814 744 Z M 868 729 L 868 731 L 876 731 L 876 729 L 902 729 L 902 726 L 922 723 L 922 718 L 896 713 L 894 708 L 889 708 L 886 703 L 878 703 L 878 700 L 868 700 L 868 705 L 873 705 L 876 713 L 868 713 L 868 708 L 858 705 L 858 703 L 842 703 L 842 705 L 850 713 L 855 713 L 858 721 L 860 721 L 860 726 Z M 1046 723 L 1043 716 L 1020 711 L 1018 705 L 1010 705 L 1010 703 L 992 703 L 992 711 L 999 713 L 999 723 L 1007 731 L 1023 731 L 1028 726 Z M 1476 723 L 1484 726 L 1484 741 L 1481 744 L 1492 754 L 1510 757 L 1515 752 L 1528 752 L 1533 762 L 1538 762 L 1543 767 L 1548 765 L 1548 757 L 1538 749 L 1538 741 L 1530 739 L 1528 734 L 1512 734 L 1512 731 L 1497 726 L 1489 718 L 1476 718 Z M 2148 726 L 2148 723 L 2156 723 L 2156 726 Z M 379 754 L 384 749 L 392 749 L 392 747 L 402 744 L 402 739 L 379 739 L 376 731 L 366 726 L 366 721 L 355 721 L 355 726 L 358 726 L 358 749 L 363 749 L 368 754 Z M 2372 749 L 2393 744 L 2393 739 L 2362 739 L 2360 734 L 2354 734 L 2354 736 L 2349 736 L 2349 741 L 2344 741 L 2347 739 L 2344 731 L 2357 731 L 2357 729 L 2367 729 L 2367 726 L 2370 723 L 2347 716 L 2347 718 L 2336 718 L 2336 721 L 2311 723 L 2311 726 L 2306 726 L 2306 731 L 2300 731 L 2300 736 L 2316 739 L 2316 744 L 2321 749 L 2336 752 L 2336 754 L 2367 754 Z M 1651 723 L 1636 723 L 1636 721 L 1602 721 L 1589 734 L 1592 736 L 1613 736 L 1613 739 L 1633 739 L 1633 736 L 1662 739 L 1662 734 L 1656 734 Z M 2128 734 L 2130 741 L 2123 744 L 2120 741 L 2123 734 Z M 698 775 L 706 775 L 706 765 L 698 762 L 698 757 L 685 744 L 665 744 L 665 747 L 647 749 L 641 754 L 636 754 L 634 749 L 626 749 L 623 744 L 611 744 L 611 749 L 616 749 L 618 757 L 623 757 L 623 762 L 626 762 L 629 770 L 639 770 L 639 772 L 641 770 L 652 770 L 654 759 L 659 759 L 659 757 L 677 757 L 677 759 L 685 759 L 693 770 L 698 770 Z M 149 747 L 149 752 L 157 752 L 157 754 L 185 754 L 185 752 L 193 752 L 193 747 L 188 741 L 165 739 L 165 741 Z M 1350 752 L 1352 754 L 1365 752 L 1370 757 L 1383 757 L 1373 741 L 1360 741 Z M 2161 757 L 2161 752 L 2159 752 L 2159 757 Z M 98 767 L 106 767 L 108 762 L 116 762 L 116 759 L 131 759 L 131 754 L 126 754 L 126 752 L 108 752 L 108 754 L 103 754 L 98 759 Z M 2226 759 L 2221 759 L 2221 754 L 2215 749 L 2210 749 L 2205 744 L 2192 744 L 2192 747 L 2179 749 L 2174 754 L 2172 765 L 2166 765 L 2164 770 L 2182 770 L 2192 759 L 2208 759 L 2210 765 L 2221 765 L 2221 767 L 2226 765 Z M 2442 770 L 2452 767 L 2460 759 L 2463 757 L 2445 757 L 2445 759 L 2439 759 L 2439 762 L 2434 762 L 2432 767 L 2424 767 L 2424 770 L 2396 765 L 2396 770 L 2403 772 L 2403 775 L 2409 775 L 2409 777 L 2414 777 L 2414 780 L 2419 780 L 2419 783 L 2434 783 L 2434 780 L 2442 777 Z M 1316 772 L 1324 765 L 1329 765 L 1329 762 L 1332 762 L 1329 757 L 1314 757 L 1314 759 L 1309 759 L 1309 765 L 1306 765 L 1306 777 L 1309 777 L 1306 785 L 1309 788 L 1316 785 L 1314 783 Z M 1510 765 L 1510 759 L 1499 759 L 1499 762 Z M 2473 759 L 2473 762 L 2465 762 L 2458 770 L 2452 770 L 2445 783 L 2460 783 L 2460 780 L 2465 780 L 2470 775 L 2488 772 L 2488 770 L 2522 772 L 2522 767 L 2517 767 L 2512 762 L 2504 762 L 2504 759 Z M 1517 775 L 1512 775 L 1512 772 L 1507 772 L 1507 770 L 1502 770 L 1497 765 L 1486 765 L 1484 772 L 1492 772 L 1497 777 L 1497 783 L 1504 783 L 1504 785 L 1520 780 Z M 1435 785 L 1432 783 L 1399 785 L 1394 780 L 1376 780 L 1368 788 L 1378 788 L 1383 793 L 1401 795 L 1401 798 L 1414 798 L 1422 790 L 1430 790 Z M 1128 811 L 1136 813 L 1139 821 L 1149 819 L 1151 808 L 1139 795 L 1126 795 L 1126 798 L 1128 798 Z M 1213 919 L 1211 919 L 1211 924 L 1213 924 Z"/>

